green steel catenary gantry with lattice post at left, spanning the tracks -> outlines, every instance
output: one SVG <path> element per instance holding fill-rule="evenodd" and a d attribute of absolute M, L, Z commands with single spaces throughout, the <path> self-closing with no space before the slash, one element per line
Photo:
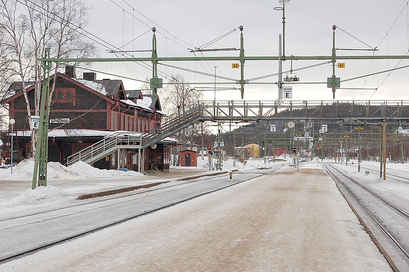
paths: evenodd
<path fill-rule="evenodd" d="M 284 18 L 283 18 L 284 19 Z M 291 60 L 331 60 L 332 62 L 332 91 L 335 97 L 336 85 L 342 80 L 335 78 L 335 63 L 336 60 L 365 60 L 365 59 L 409 59 L 408 55 L 405 56 L 336 56 L 335 54 L 335 29 L 333 26 L 333 47 L 331 56 L 292 56 Z M 286 60 L 284 56 L 244 56 L 244 40 L 243 40 L 243 27 L 240 26 L 240 55 L 231 56 L 231 57 L 157 57 L 157 47 L 156 47 L 156 29 L 153 28 L 153 37 L 152 37 L 152 55 L 151 57 L 145 58 L 50 58 L 50 48 L 44 49 L 44 57 L 38 59 L 42 62 L 43 66 L 43 83 L 41 90 L 41 104 L 40 104 L 40 120 L 39 120 L 39 129 L 38 129 L 38 140 L 36 145 L 36 155 L 34 163 L 34 172 L 33 172 L 33 186 L 35 189 L 37 186 L 47 186 L 47 160 L 48 160 L 48 122 L 49 122 L 49 88 L 50 88 L 50 64 L 52 62 L 151 62 L 152 63 L 152 79 L 151 79 L 151 88 L 153 90 L 153 95 L 157 96 L 157 88 L 160 88 L 162 85 L 159 79 L 157 78 L 157 64 L 160 61 L 239 61 L 240 62 L 240 80 L 236 80 L 237 84 L 240 84 L 241 98 L 244 94 L 244 85 L 248 82 L 244 79 L 244 63 L 245 61 L 274 61 Z M 284 28 L 283 28 L 284 31 Z M 284 33 L 283 33 L 284 34 Z M 281 43 L 281 42 L 280 42 Z M 283 43 L 284 47 L 284 43 Z M 283 48 L 284 49 L 284 48 Z M 283 50 L 283 53 L 285 51 Z M 403 67 L 409 67 L 403 66 Z M 400 67 L 400 68 L 403 68 Z M 280 75 L 281 77 L 281 75 Z M 274 83 L 276 84 L 276 83 Z M 38 183 L 37 183 L 38 181 Z"/>

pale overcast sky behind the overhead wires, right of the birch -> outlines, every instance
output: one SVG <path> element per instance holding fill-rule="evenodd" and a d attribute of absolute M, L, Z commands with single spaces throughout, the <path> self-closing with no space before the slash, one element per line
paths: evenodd
<path fill-rule="evenodd" d="M 194 56 L 188 48 L 199 47 L 218 36 L 239 26 L 244 27 L 245 56 L 278 56 L 278 37 L 282 33 L 282 12 L 275 11 L 279 1 L 131 1 L 93 0 L 82 3 L 91 7 L 88 13 L 87 30 L 101 39 L 121 47 L 133 38 L 147 32 L 124 47 L 125 50 L 150 50 L 152 47 L 152 27 L 157 29 L 157 55 L 160 57 Z M 120 6 L 120 7 L 119 7 Z M 353 35 L 370 47 L 377 47 L 376 55 L 405 55 L 409 50 L 407 0 L 394 1 L 317 1 L 291 0 L 286 5 L 286 56 L 330 56 L 332 48 L 332 25 Z M 149 21 L 147 18 L 152 20 Z M 130 13 L 130 14 L 129 14 Z M 132 17 L 132 14 L 135 18 Z M 400 16 L 399 16 L 400 14 Z M 399 18 L 398 18 L 399 16 Z M 397 19 L 398 18 L 398 19 Z M 394 24 L 394 21 L 397 21 Z M 141 22 L 141 21 L 143 22 Z M 392 27 L 392 25 L 394 26 Z M 392 28 L 391 28 L 392 27 Z M 336 31 L 337 48 L 370 47 L 354 39 L 339 29 Z M 175 41 L 175 42 L 174 42 Z M 180 43 L 181 45 L 177 44 Z M 106 47 L 96 44 L 100 57 L 115 57 L 107 53 Z M 208 48 L 240 47 L 240 31 L 210 45 Z M 372 55 L 371 51 L 337 51 L 337 55 Z M 238 51 L 210 52 L 204 56 L 238 56 Z M 134 56 L 147 57 L 150 53 L 134 53 Z M 200 54 L 196 53 L 196 56 Z M 409 60 L 348 60 L 345 69 L 337 68 L 336 76 L 341 80 L 367 75 L 368 73 L 404 66 Z M 301 68 L 323 61 L 293 61 L 292 68 Z M 167 62 L 170 65 L 197 71 L 214 73 L 228 78 L 240 78 L 240 69 L 232 69 L 232 61 L 208 62 Z M 283 63 L 283 70 L 290 69 L 289 60 Z M 96 70 L 116 75 L 145 80 L 151 78 L 151 64 L 148 68 L 126 62 L 95 63 Z M 178 69 L 158 65 L 164 82 L 170 75 L 183 75 L 195 87 L 213 85 L 195 84 L 214 82 L 214 77 L 187 73 Z M 81 71 L 81 70 L 79 70 Z M 278 72 L 277 61 L 247 61 L 245 79 Z M 166 75 L 164 75 L 166 73 Z M 300 82 L 325 82 L 332 75 L 331 64 L 297 72 Z M 343 88 L 368 88 L 367 90 L 337 90 L 336 100 L 407 100 L 409 98 L 408 68 L 396 70 L 388 76 L 378 76 L 342 83 Z M 97 78 L 116 78 L 97 73 Z M 385 80 L 386 79 L 386 80 Z M 258 82 L 277 82 L 278 77 Z M 126 89 L 139 89 L 140 83 L 123 79 Z M 218 82 L 227 82 L 218 79 Z M 217 87 L 239 87 L 236 84 Z M 372 90 L 373 88 L 378 88 Z M 207 100 L 214 99 L 214 91 L 204 92 Z M 277 85 L 246 85 L 244 100 L 275 100 L 278 97 Z M 216 100 L 241 100 L 240 90 L 217 91 Z M 326 84 L 293 85 L 293 100 L 332 100 L 331 89 Z"/>

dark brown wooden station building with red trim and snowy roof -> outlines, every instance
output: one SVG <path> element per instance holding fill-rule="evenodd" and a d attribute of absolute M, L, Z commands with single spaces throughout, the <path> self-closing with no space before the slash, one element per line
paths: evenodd
<path fill-rule="evenodd" d="M 154 130 L 164 116 L 158 98 L 154 100 L 153 96 L 145 96 L 140 91 L 125 91 L 121 80 L 97 80 L 94 72 L 83 73 L 83 79 L 77 79 L 75 68 L 67 66 L 65 73 L 58 72 L 50 77 L 50 89 L 54 81 L 49 114 L 49 161 L 65 164 L 67 157 L 118 131 L 143 133 Z M 26 89 L 32 116 L 35 115 L 34 88 L 33 84 Z M 31 158 L 31 118 L 21 82 L 14 82 L 9 90 L 10 95 L 0 103 L 8 104 L 10 118 L 15 119 L 13 150 L 19 154 L 20 160 Z M 10 136 L 10 130 L 3 132 L 3 142 L 9 142 Z M 169 169 L 166 165 L 170 163 L 169 148 L 175 143 L 168 139 L 154 149 L 145 149 L 146 165 L 143 168 Z M 135 164 L 141 163 L 135 162 L 138 157 L 135 152 L 138 151 L 123 151 L 120 160 L 116 158 L 118 154 L 111 154 L 95 162 L 94 166 L 135 168 Z M 7 157 L 7 151 L 5 155 Z M 152 165 L 155 163 L 157 165 Z"/>

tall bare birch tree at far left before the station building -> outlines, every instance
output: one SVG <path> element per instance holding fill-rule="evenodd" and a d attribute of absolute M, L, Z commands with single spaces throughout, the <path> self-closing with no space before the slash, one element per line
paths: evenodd
<path fill-rule="evenodd" d="M 95 47 L 80 32 L 80 28 L 87 24 L 86 13 L 87 8 L 80 0 L 0 0 L 1 61 L 7 63 L 11 78 L 21 81 L 28 118 L 32 112 L 39 115 L 43 75 L 42 64 L 37 59 L 42 57 L 46 46 L 52 48 L 50 56 L 54 58 L 94 55 Z M 56 75 L 62 65 L 52 64 L 51 73 Z M 28 99 L 29 81 L 35 82 L 34 105 L 30 105 Z M 49 100 L 55 83 L 56 78 L 50 86 Z M 37 131 L 33 135 L 32 147 L 35 152 Z"/>

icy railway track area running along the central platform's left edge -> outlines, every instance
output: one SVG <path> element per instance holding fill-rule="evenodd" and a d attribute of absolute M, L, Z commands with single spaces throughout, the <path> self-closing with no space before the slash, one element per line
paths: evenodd
<path fill-rule="evenodd" d="M 273 169 L 274 168 L 274 169 Z M 171 206 L 190 201 L 197 197 L 210 194 L 237 184 L 253 180 L 255 178 L 270 174 L 277 171 L 280 167 L 260 168 L 259 172 L 248 173 L 248 175 L 234 174 L 234 179 L 230 180 L 228 176 L 211 177 L 206 181 L 195 183 L 183 183 L 165 188 L 158 188 L 154 194 L 148 195 L 147 191 L 143 192 L 142 197 L 132 199 L 132 196 L 141 194 L 133 193 L 126 196 L 118 196 L 115 199 L 108 199 L 86 204 L 73 205 L 61 209 L 43 211 L 41 213 L 26 215 L 24 217 L 8 218 L 0 221 L 2 229 L 0 237 L 8 243 L 0 245 L 0 264 L 18 258 L 24 255 L 32 254 L 49 246 L 81 237 L 111 226 L 121 224 L 122 222 L 135 219 L 156 211 L 160 211 Z M 247 171 L 248 172 L 248 171 Z M 244 173 L 242 173 L 244 174 Z M 212 180 L 209 182 L 209 180 Z M 171 188 L 173 187 L 173 188 Z M 169 190 L 170 189 L 170 190 Z M 176 192 L 177 191 L 177 192 Z M 130 199 L 123 199 L 128 197 Z M 119 202 L 115 202 L 121 199 Z M 112 203 L 110 203 L 112 202 Z M 96 205 L 95 207 L 83 208 L 86 205 Z M 79 210 L 70 210 L 70 209 Z M 138 210 L 139 208 L 139 210 Z M 142 210 L 141 210 L 142 209 Z M 64 211 L 62 214 L 60 211 Z M 55 215 L 51 213 L 56 213 Z M 30 216 L 39 216 L 42 218 L 31 219 Z M 44 215 L 47 215 L 44 218 Z M 26 220 L 14 223 L 15 220 Z M 92 227 L 90 225 L 94 224 Z M 95 225 L 98 224 L 98 225 Z M 8 225 L 8 226 L 7 226 Z M 42 235 L 29 235 L 33 230 L 46 231 L 43 239 Z M 21 233 L 26 233 L 21 237 Z M 13 241 L 6 237 L 17 237 Z M 3 254 L 2 254 L 3 253 Z"/>

